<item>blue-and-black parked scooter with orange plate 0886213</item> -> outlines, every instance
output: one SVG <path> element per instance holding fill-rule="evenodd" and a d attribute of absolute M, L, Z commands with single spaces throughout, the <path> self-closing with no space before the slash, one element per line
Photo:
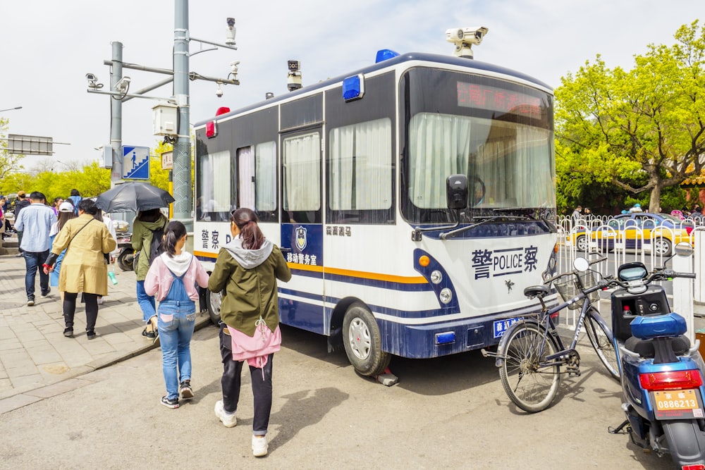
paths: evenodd
<path fill-rule="evenodd" d="M 687 245 L 687 244 L 682 244 Z M 692 253 L 692 248 L 678 245 Z M 665 266 L 665 264 L 664 264 Z M 670 311 L 656 281 L 694 278 L 631 262 L 618 268 L 612 294 L 612 329 L 620 352 L 621 381 L 632 442 L 659 456 L 670 454 L 679 469 L 705 470 L 705 364 L 684 333 L 685 319 Z"/>

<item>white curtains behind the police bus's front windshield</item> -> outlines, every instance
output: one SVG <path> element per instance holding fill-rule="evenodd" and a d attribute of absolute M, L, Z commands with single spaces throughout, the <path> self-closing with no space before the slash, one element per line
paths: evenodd
<path fill-rule="evenodd" d="M 419 113 L 410 121 L 409 198 L 446 207 L 446 178 L 462 173 L 485 185 L 480 207 L 553 206 L 548 130 L 498 120 Z M 472 194 L 471 194 L 472 197 Z"/>

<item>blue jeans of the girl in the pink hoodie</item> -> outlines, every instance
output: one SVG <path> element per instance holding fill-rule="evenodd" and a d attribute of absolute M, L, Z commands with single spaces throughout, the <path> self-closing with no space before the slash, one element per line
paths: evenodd
<path fill-rule="evenodd" d="M 191 337 L 195 324 L 193 301 L 159 302 L 157 328 L 161 342 L 161 369 L 169 400 L 178 398 L 180 382 L 191 379 Z"/>

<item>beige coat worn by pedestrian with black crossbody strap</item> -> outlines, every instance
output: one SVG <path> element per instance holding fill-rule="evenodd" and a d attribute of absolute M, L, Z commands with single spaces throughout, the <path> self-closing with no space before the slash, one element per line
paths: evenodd
<path fill-rule="evenodd" d="M 68 247 L 61 262 L 59 290 L 108 295 L 108 267 L 103 254 L 113 251 L 115 245 L 105 224 L 90 214 L 66 222 L 51 245 L 51 252 L 55 254 Z"/>

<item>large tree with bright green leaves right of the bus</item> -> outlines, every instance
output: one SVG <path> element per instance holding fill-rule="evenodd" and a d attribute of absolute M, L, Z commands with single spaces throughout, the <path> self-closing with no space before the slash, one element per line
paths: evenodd
<path fill-rule="evenodd" d="M 635 67 L 587 61 L 556 89 L 556 168 L 568 195 L 584 181 L 649 192 L 699 175 L 705 163 L 705 29 L 695 20 L 671 47 L 649 45 Z M 561 173 L 563 171 L 563 173 Z M 566 181 L 575 176 L 575 182 Z M 565 194 L 564 194 L 565 196 Z"/>

